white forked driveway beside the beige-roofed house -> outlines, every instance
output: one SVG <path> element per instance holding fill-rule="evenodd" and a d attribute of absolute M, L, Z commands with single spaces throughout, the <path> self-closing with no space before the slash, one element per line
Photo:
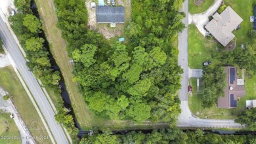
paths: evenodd
<path fill-rule="evenodd" d="M 195 24 L 200 33 L 205 36 L 207 31 L 205 31 L 204 26 L 209 22 L 209 16 L 212 16 L 219 9 L 221 2 L 222 0 L 215 0 L 209 9 L 200 14 L 188 14 L 188 24 Z"/>

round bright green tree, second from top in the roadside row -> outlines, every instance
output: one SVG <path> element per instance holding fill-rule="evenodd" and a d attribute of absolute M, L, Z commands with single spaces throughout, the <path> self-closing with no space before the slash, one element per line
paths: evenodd
<path fill-rule="evenodd" d="M 33 14 L 26 14 L 23 18 L 23 25 L 28 27 L 32 33 L 41 33 L 42 22 Z"/>

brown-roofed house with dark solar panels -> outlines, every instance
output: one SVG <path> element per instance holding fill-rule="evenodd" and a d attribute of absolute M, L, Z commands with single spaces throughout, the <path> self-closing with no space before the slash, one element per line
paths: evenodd
<path fill-rule="evenodd" d="M 234 108 L 238 105 L 238 98 L 245 95 L 244 79 L 238 79 L 236 67 L 225 67 L 226 88 L 224 97 L 218 98 L 218 107 Z"/>

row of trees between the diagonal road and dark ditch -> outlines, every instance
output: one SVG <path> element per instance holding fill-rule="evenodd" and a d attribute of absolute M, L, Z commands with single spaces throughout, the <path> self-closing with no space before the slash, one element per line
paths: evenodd
<path fill-rule="evenodd" d="M 20 12 L 10 16 L 14 33 L 20 40 L 20 45 L 26 52 L 26 59 L 29 60 L 28 67 L 38 79 L 41 79 L 45 86 L 53 88 L 56 93 L 60 93 L 58 82 L 60 73 L 53 71 L 49 59 L 49 52 L 45 48 L 45 40 L 39 37 L 42 31 L 41 21 L 32 14 L 30 10 L 30 0 L 15 0 L 14 4 Z"/>

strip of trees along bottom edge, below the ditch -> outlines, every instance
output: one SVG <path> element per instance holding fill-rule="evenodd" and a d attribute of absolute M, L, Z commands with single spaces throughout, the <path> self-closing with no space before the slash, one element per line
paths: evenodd
<path fill-rule="evenodd" d="M 248 143 L 254 144 L 256 138 L 254 135 L 219 135 L 203 132 L 202 130 L 182 132 L 177 128 L 162 130 L 152 130 L 146 134 L 142 132 L 128 132 L 127 134 L 112 134 L 112 132 L 103 132 L 103 134 L 86 135 L 81 139 L 80 144 L 91 143 Z"/>

